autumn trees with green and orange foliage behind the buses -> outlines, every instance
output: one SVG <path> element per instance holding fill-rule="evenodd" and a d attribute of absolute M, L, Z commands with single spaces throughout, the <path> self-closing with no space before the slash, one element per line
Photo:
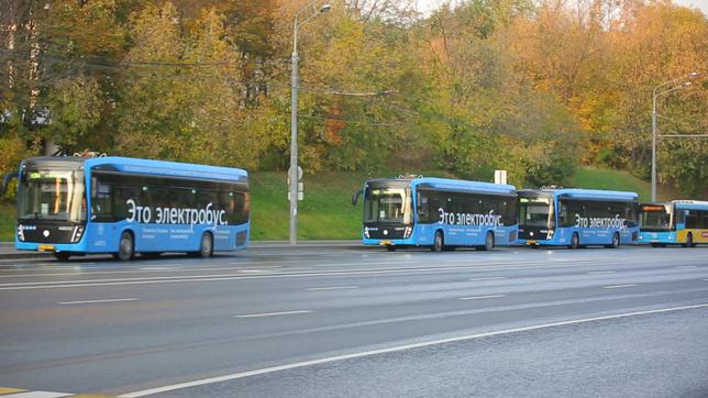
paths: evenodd
<path fill-rule="evenodd" d="M 300 0 L 5 0 L 0 173 L 90 148 L 250 170 L 289 165 Z M 333 0 L 300 29 L 306 173 L 440 169 L 518 186 L 580 165 L 707 197 L 708 20 L 670 0 Z M 692 136 L 693 135 L 693 136 Z"/>

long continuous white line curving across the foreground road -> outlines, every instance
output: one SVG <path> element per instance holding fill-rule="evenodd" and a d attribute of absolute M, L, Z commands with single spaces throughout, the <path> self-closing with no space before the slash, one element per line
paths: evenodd
<path fill-rule="evenodd" d="M 189 388 L 189 387 L 197 387 L 197 386 L 203 386 L 203 385 L 208 385 L 208 384 L 230 382 L 230 380 L 235 380 L 235 379 L 245 378 L 245 377 L 250 377 L 250 376 L 265 375 L 265 374 L 275 373 L 275 372 L 289 371 L 289 369 L 295 369 L 295 368 L 300 368 L 300 367 L 328 364 L 328 363 L 332 363 L 332 362 L 341 362 L 341 361 L 346 361 L 346 360 L 354 360 L 354 358 L 362 358 L 362 357 L 368 357 L 368 356 L 374 356 L 374 355 L 381 355 L 381 354 L 397 353 L 397 352 L 416 350 L 416 349 L 423 349 L 423 347 L 433 346 L 433 345 L 441 345 L 441 344 L 456 343 L 456 342 L 465 342 L 465 341 L 472 341 L 472 340 L 483 339 L 483 338 L 490 338 L 490 336 L 497 336 L 497 335 L 529 332 L 529 331 L 543 330 L 543 329 L 550 329 L 550 328 L 560 328 L 560 327 L 583 324 L 583 323 L 589 323 L 589 322 L 608 321 L 608 320 L 630 318 L 630 317 L 648 316 L 648 314 L 654 314 L 654 313 L 667 313 L 667 312 L 675 312 L 675 311 L 693 310 L 693 309 L 699 309 L 699 308 L 708 308 L 708 303 L 696 305 L 696 306 L 686 306 L 686 307 L 664 308 L 664 309 L 648 310 L 648 311 L 627 312 L 627 313 L 619 313 L 619 314 L 606 316 L 606 317 L 575 319 L 575 320 L 569 320 L 569 321 L 561 321 L 561 322 L 553 322 L 553 323 L 545 323 L 545 324 L 536 324 L 536 325 L 530 325 L 530 327 L 500 330 L 500 331 L 495 331 L 495 332 L 469 334 L 469 335 L 463 335 L 463 336 L 457 336 L 457 338 L 450 338 L 450 339 L 433 340 L 433 341 L 414 343 L 414 344 L 391 346 L 391 347 L 388 347 L 388 349 L 365 351 L 365 352 L 358 352 L 358 353 L 352 353 L 352 354 L 345 354 L 345 355 L 339 355 L 339 356 L 330 356 L 330 357 L 324 357 L 324 358 L 319 358 L 319 360 L 297 362 L 297 363 L 291 363 L 291 364 L 286 364 L 286 365 L 265 367 L 265 368 L 255 369 L 255 371 L 234 373 L 234 374 L 230 374 L 230 375 L 209 377 L 209 378 L 202 378 L 202 379 L 187 382 L 187 383 L 174 384 L 174 385 L 169 385 L 169 386 L 144 389 L 144 390 L 140 390 L 140 391 L 133 391 L 133 393 L 128 393 L 128 394 L 120 395 L 119 398 L 139 398 L 139 397 L 144 397 L 144 396 L 147 396 L 147 395 L 174 391 L 174 390 Z"/>

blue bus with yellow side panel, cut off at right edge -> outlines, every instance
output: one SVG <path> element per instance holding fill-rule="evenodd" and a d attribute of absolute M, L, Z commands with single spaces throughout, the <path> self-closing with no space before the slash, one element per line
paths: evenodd
<path fill-rule="evenodd" d="M 693 247 L 708 243 L 708 202 L 674 200 L 666 203 L 642 203 L 639 243 L 654 247 L 681 244 Z"/>

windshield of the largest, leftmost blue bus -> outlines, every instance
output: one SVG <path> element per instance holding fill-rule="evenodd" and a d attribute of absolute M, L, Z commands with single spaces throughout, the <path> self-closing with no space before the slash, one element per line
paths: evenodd
<path fill-rule="evenodd" d="M 19 219 L 86 221 L 84 174 L 30 170 L 18 188 Z"/>

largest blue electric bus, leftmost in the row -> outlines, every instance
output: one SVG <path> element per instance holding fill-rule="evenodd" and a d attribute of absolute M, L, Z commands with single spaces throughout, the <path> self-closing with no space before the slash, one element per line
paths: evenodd
<path fill-rule="evenodd" d="M 19 250 L 126 261 L 248 245 L 248 175 L 239 168 L 48 156 L 24 159 L 16 177 Z"/>

